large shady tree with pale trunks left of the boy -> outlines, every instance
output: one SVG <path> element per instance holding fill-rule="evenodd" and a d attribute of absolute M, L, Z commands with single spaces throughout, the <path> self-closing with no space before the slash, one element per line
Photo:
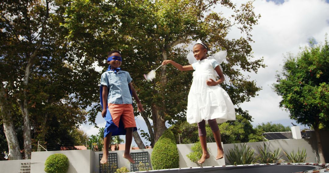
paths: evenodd
<path fill-rule="evenodd" d="M 88 84 L 96 83 L 89 75 L 97 72 L 88 59 L 70 55 L 65 28 L 60 26 L 65 2 L 1 2 L 0 109 L 13 156 L 21 149 L 15 118 L 23 120 L 24 158 L 29 159 L 34 142 L 44 141 L 52 125 L 74 127 L 86 122 L 86 115 L 94 114 L 85 110 L 98 100 L 97 86 Z M 50 119 L 58 122 L 48 122 Z"/>

